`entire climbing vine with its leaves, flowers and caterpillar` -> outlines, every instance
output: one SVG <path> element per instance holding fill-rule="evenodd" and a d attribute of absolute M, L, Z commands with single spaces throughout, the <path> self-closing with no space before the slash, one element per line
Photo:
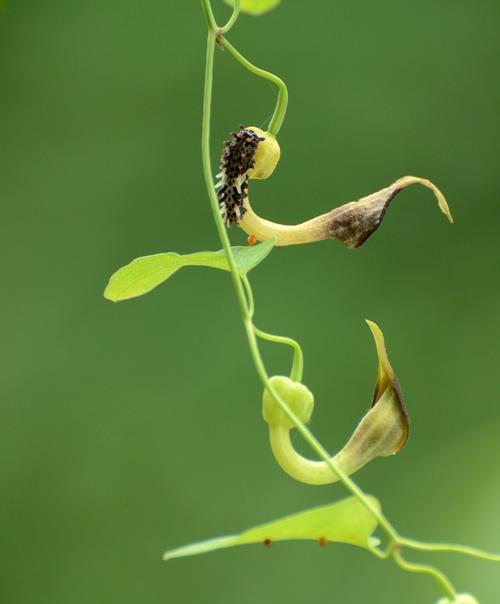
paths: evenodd
<path fill-rule="evenodd" d="M 228 3 L 233 5 L 233 11 L 229 20 L 219 26 L 210 0 L 201 0 L 208 30 L 202 165 L 222 249 L 187 255 L 168 252 L 137 258 L 111 277 L 105 296 L 116 302 L 143 295 L 185 266 L 207 266 L 229 272 L 251 356 L 263 385 L 263 417 L 268 424 L 270 446 L 277 463 L 292 478 L 307 484 L 341 482 L 349 496 L 331 505 L 287 516 L 237 535 L 170 549 L 164 558 L 170 560 L 248 543 L 264 543 L 269 546 L 274 541 L 289 539 L 312 539 L 320 545 L 325 545 L 328 541 L 339 541 L 365 548 L 377 558 L 392 561 L 408 572 L 428 575 L 442 592 L 440 604 L 473 604 L 477 600 L 471 595 L 459 594 L 450 579 L 438 568 L 411 562 L 408 556 L 412 551 L 449 552 L 500 562 L 500 555 L 460 545 L 423 543 L 400 535 L 384 515 L 377 499 L 365 494 L 351 477 L 372 459 L 396 454 L 405 445 L 409 435 L 408 413 L 380 327 L 367 321 L 378 357 L 371 408 L 346 445 L 332 456 L 307 427 L 315 401 L 312 392 L 303 383 L 302 349 L 290 337 L 267 333 L 257 327 L 249 278 L 250 271 L 265 260 L 274 246 L 335 239 L 349 248 L 359 247 L 377 230 L 391 202 L 408 186 L 421 184 L 431 189 L 440 210 L 453 222 L 446 199 L 429 180 L 405 176 L 380 191 L 343 204 L 302 224 L 276 224 L 258 216 L 250 205 L 250 183 L 253 179 L 269 178 L 280 159 L 277 137 L 286 116 L 288 91 L 281 78 L 256 67 L 244 57 L 228 41 L 227 34 L 237 23 L 240 11 L 262 14 L 279 4 L 279 0 L 235 0 Z M 256 77 L 274 84 L 278 95 L 267 130 L 243 125 L 225 141 L 220 171 L 214 178 L 214 165 L 210 156 L 210 125 L 217 47 L 226 50 Z M 231 225 L 236 225 L 247 233 L 248 246 L 231 245 L 227 231 L 227 227 Z M 288 376 L 270 375 L 260 353 L 261 341 L 285 345 L 291 349 L 292 363 Z M 292 430 L 297 430 L 302 435 L 318 459 L 306 458 L 295 450 L 290 438 Z"/>

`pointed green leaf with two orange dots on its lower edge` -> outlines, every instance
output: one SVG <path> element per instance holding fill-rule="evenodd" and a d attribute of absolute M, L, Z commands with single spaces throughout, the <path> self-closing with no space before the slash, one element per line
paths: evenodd
<path fill-rule="evenodd" d="M 377 509 L 380 509 L 380 504 L 374 497 L 369 499 Z M 169 550 L 164 554 L 163 559 L 194 556 L 235 545 L 250 543 L 270 545 L 276 541 L 296 539 L 313 540 L 321 544 L 336 541 L 372 549 L 378 542 L 371 536 L 376 527 L 377 520 L 365 506 L 357 498 L 348 497 L 331 505 L 312 508 L 274 522 L 261 524 L 239 535 L 217 537 Z"/>

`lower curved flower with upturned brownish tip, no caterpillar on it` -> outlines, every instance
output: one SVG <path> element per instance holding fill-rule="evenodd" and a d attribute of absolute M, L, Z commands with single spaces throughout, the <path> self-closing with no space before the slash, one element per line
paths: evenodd
<path fill-rule="evenodd" d="M 378 325 L 371 321 L 367 323 L 377 347 L 378 379 L 372 408 L 358 424 L 347 444 L 331 460 L 347 475 L 361 469 L 375 457 L 394 455 L 405 445 L 409 434 L 408 414 L 398 380 L 387 357 L 384 336 Z M 274 376 L 271 382 L 292 412 L 301 421 L 309 421 L 314 407 L 311 392 L 303 384 L 285 376 Z M 274 457 L 287 474 L 295 480 L 314 485 L 339 480 L 325 461 L 307 459 L 294 449 L 290 438 L 293 422 L 276 406 L 267 390 L 263 397 L 263 415 L 269 424 Z"/>

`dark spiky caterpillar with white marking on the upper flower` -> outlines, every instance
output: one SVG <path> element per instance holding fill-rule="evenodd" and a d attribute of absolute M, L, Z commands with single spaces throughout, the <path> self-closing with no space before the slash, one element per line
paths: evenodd
<path fill-rule="evenodd" d="M 216 188 L 222 219 L 228 227 L 239 224 L 245 214 L 243 202 L 248 195 L 248 170 L 253 168 L 257 146 L 263 140 L 252 130 L 240 126 L 239 131 L 224 142 Z"/>

